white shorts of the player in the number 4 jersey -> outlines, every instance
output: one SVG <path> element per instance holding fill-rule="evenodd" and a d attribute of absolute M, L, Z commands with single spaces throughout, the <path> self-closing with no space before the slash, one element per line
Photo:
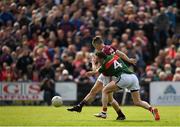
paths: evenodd
<path fill-rule="evenodd" d="M 117 86 L 124 89 L 127 88 L 130 91 L 139 90 L 139 80 L 135 74 L 121 74 L 117 78 Z"/>

